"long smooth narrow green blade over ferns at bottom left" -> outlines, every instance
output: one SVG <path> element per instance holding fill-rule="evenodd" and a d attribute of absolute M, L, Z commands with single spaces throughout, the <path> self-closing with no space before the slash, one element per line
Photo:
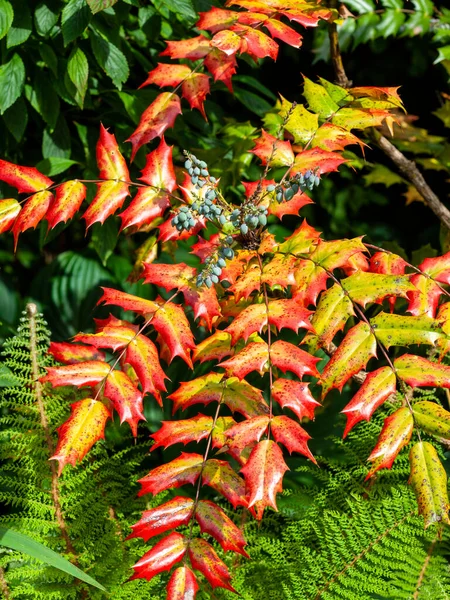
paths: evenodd
<path fill-rule="evenodd" d="M 14 531 L 14 529 L 0 526 L 0 546 L 6 546 L 6 548 L 12 548 L 18 552 L 23 552 L 32 558 L 43 561 L 47 565 L 55 567 L 60 571 L 64 571 L 64 573 L 73 575 L 73 577 L 76 577 L 81 581 L 85 581 L 86 583 L 89 583 L 89 585 L 92 585 L 99 590 L 106 591 L 105 588 L 98 583 L 98 581 L 95 581 L 95 579 L 70 563 L 63 556 L 57 552 L 54 552 L 53 550 L 50 550 L 50 548 L 47 548 L 47 546 L 36 542 L 27 535 L 24 535 L 18 531 Z"/>

